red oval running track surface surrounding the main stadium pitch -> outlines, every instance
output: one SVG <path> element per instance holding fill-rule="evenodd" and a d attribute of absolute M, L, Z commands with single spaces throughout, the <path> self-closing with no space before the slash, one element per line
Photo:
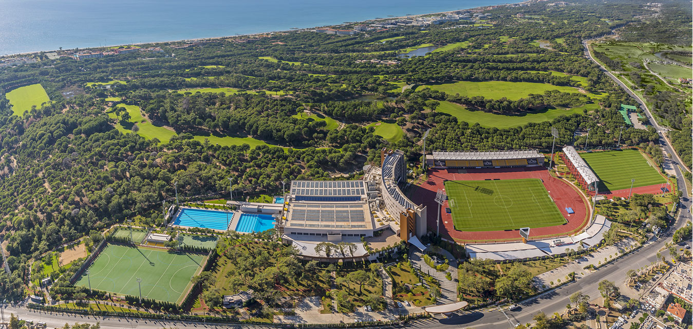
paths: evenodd
<path fill-rule="evenodd" d="M 466 169 L 466 174 L 458 174 L 459 169 L 431 169 L 428 171 L 428 180 L 421 186 L 414 187 L 411 198 L 414 203 L 426 205 L 428 216 L 428 229 L 435 232 L 438 216 L 438 203 L 435 202 L 435 194 L 438 189 L 445 189 L 444 180 L 484 180 L 486 178 L 519 179 L 541 178 L 549 195 L 556 202 L 561 214 L 568 223 L 559 226 L 547 226 L 544 228 L 532 228 L 530 238 L 552 237 L 570 235 L 584 228 L 587 223 L 586 200 L 572 186 L 559 178 L 553 178 L 543 167 L 527 168 L 498 168 L 498 169 Z M 635 189 L 633 189 L 635 192 Z M 440 234 L 447 239 L 457 242 L 501 242 L 520 240 L 518 230 L 500 230 L 484 232 L 466 232 L 455 230 L 451 214 L 445 212 L 448 201 L 441 208 Z M 565 207 L 574 210 L 574 214 L 568 214 Z M 519 229 L 519 228 L 518 228 Z"/>

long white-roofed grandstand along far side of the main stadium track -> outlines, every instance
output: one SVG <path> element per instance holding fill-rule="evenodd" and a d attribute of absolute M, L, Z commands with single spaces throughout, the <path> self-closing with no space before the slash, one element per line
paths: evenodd
<path fill-rule="evenodd" d="M 536 150 L 512 151 L 433 151 L 426 163 L 434 168 L 510 168 L 538 167 L 544 155 Z"/>

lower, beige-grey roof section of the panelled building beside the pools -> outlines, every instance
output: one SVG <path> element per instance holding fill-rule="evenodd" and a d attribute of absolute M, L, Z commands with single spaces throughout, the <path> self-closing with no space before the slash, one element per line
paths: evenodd
<path fill-rule="evenodd" d="M 306 228 L 366 228 L 363 204 L 295 203 L 288 226 Z"/>

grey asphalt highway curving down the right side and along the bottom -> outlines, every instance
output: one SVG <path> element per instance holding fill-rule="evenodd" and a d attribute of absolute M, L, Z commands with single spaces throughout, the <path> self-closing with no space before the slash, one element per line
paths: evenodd
<path fill-rule="evenodd" d="M 586 41 L 584 42 L 585 47 L 587 47 Z M 592 58 L 589 51 L 586 50 L 586 56 Z M 595 61 L 596 62 L 596 61 Z M 597 62 L 597 64 L 599 64 Z M 600 65 L 601 66 L 601 65 Z M 650 119 L 651 124 L 660 131 L 660 135 L 663 135 L 663 129 L 658 126 L 654 118 L 651 116 L 649 109 L 644 105 L 644 102 L 638 95 L 634 94 L 628 87 L 626 87 L 621 81 L 619 81 L 615 76 L 609 73 L 604 67 L 602 67 L 604 73 L 610 76 L 616 83 L 621 85 L 621 87 L 626 90 L 631 96 L 633 96 L 638 102 L 640 102 L 646 112 L 647 117 Z M 602 267 L 597 271 L 592 273 L 586 273 L 585 276 L 578 278 L 575 282 L 568 285 L 564 285 L 558 289 L 554 289 L 551 292 L 542 294 L 534 299 L 526 301 L 520 305 L 520 310 L 516 311 L 490 311 L 490 312 L 461 312 L 460 314 L 453 314 L 452 317 L 441 317 L 427 319 L 423 321 L 414 321 L 405 325 L 406 328 L 513 328 L 516 323 L 530 323 L 532 322 L 532 317 L 538 312 L 544 312 L 545 314 L 551 315 L 554 312 L 562 312 L 565 310 L 565 305 L 570 303 L 570 295 L 575 292 L 582 292 L 587 294 L 591 298 L 597 298 L 600 296 L 597 290 L 597 285 L 599 281 L 610 280 L 613 282 L 621 282 L 626 276 L 626 271 L 629 269 L 639 269 L 640 267 L 655 262 L 657 260 L 656 254 L 665 248 L 665 243 L 670 242 L 674 230 L 681 228 L 685 225 L 687 221 L 691 220 L 690 208 L 691 208 L 691 196 L 686 189 L 683 174 L 680 168 L 685 168 L 681 164 L 681 160 L 676 155 L 676 152 L 672 149 L 669 144 L 669 140 L 665 135 L 662 136 L 660 141 L 663 147 L 667 150 L 669 155 L 673 155 L 674 158 L 671 159 L 674 171 L 676 171 L 676 180 L 678 182 L 678 187 L 683 192 L 681 197 L 680 211 L 676 217 L 676 221 L 671 229 L 667 230 L 665 234 L 656 239 L 651 239 L 645 246 L 638 249 L 637 251 L 626 255 L 624 258 L 613 262 L 612 264 Z M 665 254 L 665 253 L 663 253 Z M 4 310 L 5 318 L 9 317 L 9 313 L 15 313 L 21 319 L 31 319 L 34 323 L 38 321 L 44 321 L 48 324 L 50 328 L 52 327 L 62 327 L 64 323 L 97 323 L 100 322 L 101 328 L 104 329 L 120 329 L 120 328 L 138 328 L 138 329 L 154 329 L 154 328 L 262 328 L 262 326 L 252 326 L 252 325 L 229 325 L 222 323 L 200 323 L 200 322 L 190 322 L 190 321 L 153 321 L 153 320 L 143 320 L 143 319 L 126 319 L 123 317 L 86 317 L 73 314 L 56 314 L 56 313 L 46 313 L 46 312 L 36 312 L 33 310 L 27 310 L 24 307 L 7 307 Z M 506 317 L 509 317 L 509 319 Z"/>

